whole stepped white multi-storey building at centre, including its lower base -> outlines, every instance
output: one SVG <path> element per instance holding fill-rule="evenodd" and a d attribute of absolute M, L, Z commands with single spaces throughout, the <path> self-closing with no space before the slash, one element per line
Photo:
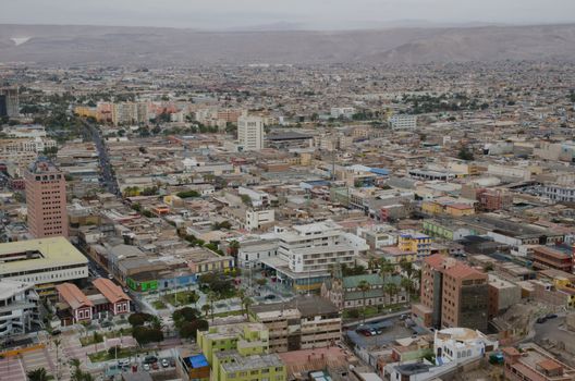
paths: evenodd
<path fill-rule="evenodd" d="M 278 257 L 266 258 L 278 280 L 297 292 L 319 290 L 335 265 L 351 266 L 369 248 L 364 238 L 344 232 L 333 221 L 295 225 L 277 232 Z"/>

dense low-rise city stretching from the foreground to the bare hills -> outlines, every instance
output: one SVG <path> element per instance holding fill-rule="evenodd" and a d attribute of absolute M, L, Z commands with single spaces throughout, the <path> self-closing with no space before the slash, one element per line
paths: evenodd
<path fill-rule="evenodd" d="M 574 106 L 561 60 L 0 62 L 0 380 L 575 380 Z"/>

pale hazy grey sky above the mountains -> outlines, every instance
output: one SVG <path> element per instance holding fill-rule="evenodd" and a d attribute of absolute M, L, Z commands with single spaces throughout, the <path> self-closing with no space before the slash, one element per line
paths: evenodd
<path fill-rule="evenodd" d="M 374 27 L 397 21 L 564 23 L 575 0 L 0 0 L 0 23 L 237 28 Z"/>

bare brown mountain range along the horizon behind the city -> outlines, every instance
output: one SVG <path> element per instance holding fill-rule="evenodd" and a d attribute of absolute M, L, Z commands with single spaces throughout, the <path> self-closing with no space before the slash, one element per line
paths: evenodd
<path fill-rule="evenodd" d="M 28 39 L 22 42 L 25 38 Z M 0 62 L 48 65 L 425 63 L 507 59 L 574 60 L 575 24 L 352 32 L 0 25 Z"/>

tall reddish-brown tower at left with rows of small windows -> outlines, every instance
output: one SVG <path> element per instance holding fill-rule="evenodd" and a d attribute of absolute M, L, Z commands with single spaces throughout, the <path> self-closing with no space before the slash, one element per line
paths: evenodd
<path fill-rule="evenodd" d="M 46 160 L 25 173 L 28 229 L 35 238 L 68 236 L 64 174 Z"/>

